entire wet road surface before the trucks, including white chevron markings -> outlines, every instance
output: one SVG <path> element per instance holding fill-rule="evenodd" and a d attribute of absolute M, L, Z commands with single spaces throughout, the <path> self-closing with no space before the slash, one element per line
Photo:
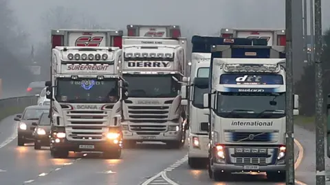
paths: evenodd
<path fill-rule="evenodd" d="M 186 147 L 171 150 L 164 145 L 140 145 L 124 149 L 120 160 L 77 153 L 70 153 L 67 159 L 53 159 L 48 148 L 35 151 L 32 145 L 17 147 L 16 127 L 13 116 L 0 122 L 3 185 L 282 184 L 267 181 L 265 175 L 234 175 L 226 182 L 212 182 L 205 169 L 188 169 Z"/>

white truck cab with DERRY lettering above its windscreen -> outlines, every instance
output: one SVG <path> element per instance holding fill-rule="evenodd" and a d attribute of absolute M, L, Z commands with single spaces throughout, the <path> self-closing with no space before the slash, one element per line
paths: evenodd
<path fill-rule="evenodd" d="M 123 37 L 124 145 L 156 141 L 171 148 L 184 143 L 181 83 L 186 81 L 186 38 Z"/>

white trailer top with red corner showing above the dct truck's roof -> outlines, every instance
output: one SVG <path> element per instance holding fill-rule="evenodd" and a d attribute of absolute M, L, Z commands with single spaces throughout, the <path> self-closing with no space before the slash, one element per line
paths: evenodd
<path fill-rule="evenodd" d="M 221 29 L 220 36 L 223 38 L 266 39 L 268 46 L 272 46 L 272 45 L 285 46 L 285 44 L 286 44 L 285 29 L 223 28 L 223 29 Z"/>

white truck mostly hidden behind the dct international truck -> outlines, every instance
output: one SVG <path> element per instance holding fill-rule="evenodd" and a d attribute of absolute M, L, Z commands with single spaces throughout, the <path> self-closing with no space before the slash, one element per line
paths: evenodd
<path fill-rule="evenodd" d="M 188 164 L 200 167 L 208 161 L 208 116 L 203 111 L 203 94 L 208 93 L 211 46 L 219 37 L 192 36 L 192 56 L 188 86 L 181 88 L 181 105 L 187 105 Z"/>

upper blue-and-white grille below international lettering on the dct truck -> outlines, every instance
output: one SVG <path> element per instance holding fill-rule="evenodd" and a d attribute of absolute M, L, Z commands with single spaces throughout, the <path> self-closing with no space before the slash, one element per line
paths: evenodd
<path fill-rule="evenodd" d="M 273 143 L 278 140 L 278 132 L 225 132 L 225 140 L 234 143 Z"/>

